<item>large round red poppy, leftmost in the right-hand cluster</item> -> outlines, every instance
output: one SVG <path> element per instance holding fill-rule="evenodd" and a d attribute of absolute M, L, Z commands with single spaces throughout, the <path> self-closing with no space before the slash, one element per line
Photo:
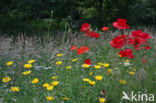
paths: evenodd
<path fill-rule="evenodd" d="M 119 49 L 122 48 L 126 44 L 126 35 L 116 36 L 114 39 L 111 40 L 110 44 L 112 47 Z"/>

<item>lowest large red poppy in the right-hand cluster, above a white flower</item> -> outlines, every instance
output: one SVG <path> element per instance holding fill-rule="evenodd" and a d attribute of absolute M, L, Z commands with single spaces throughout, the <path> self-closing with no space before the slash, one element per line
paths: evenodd
<path fill-rule="evenodd" d="M 121 55 L 121 57 L 128 57 L 130 59 L 134 58 L 134 55 L 132 54 L 132 50 L 131 49 L 125 49 L 125 50 L 121 50 L 118 54 Z"/>

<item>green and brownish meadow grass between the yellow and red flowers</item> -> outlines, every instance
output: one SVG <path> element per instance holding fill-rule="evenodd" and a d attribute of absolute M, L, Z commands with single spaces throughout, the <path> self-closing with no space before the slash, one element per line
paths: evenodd
<path fill-rule="evenodd" d="M 156 34 L 155 31 L 149 32 Z M 118 32 L 102 33 L 99 39 L 68 35 L 66 42 L 62 44 L 60 44 L 62 40 L 55 41 L 54 38 L 49 38 L 48 42 L 42 42 L 39 37 L 19 36 L 17 41 L 12 41 L 11 37 L 2 37 L 0 43 L 2 49 L 0 51 L 0 101 L 3 100 L 2 103 L 99 103 L 98 99 L 104 97 L 106 103 L 120 103 L 123 96 L 122 91 L 149 93 L 156 96 L 155 35 L 153 34 L 151 40 L 151 49 L 145 52 L 134 50 L 135 58 L 130 60 L 131 65 L 125 66 L 124 60 L 129 59 L 120 58 L 117 55 L 119 50 L 109 44 L 111 38 L 117 34 Z M 90 50 L 88 53 L 77 55 L 76 51 L 70 51 L 71 45 L 78 47 L 85 45 Z M 57 57 L 58 53 L 63 53 L 63 56 Z M 75 58 L 79 58 L 78 61 L 72 62 L 72 59 Z M 142 58 L 145 58 L 147 62 L 143 63 Z M 28 70 L 23 65 L 30 59 L 35 59 L 33 67 L 29 69 L 32 73 L 27 76 L 22 75 L 23 71 Z M 101 67 L 98 70 L 93 66 L 82 68 L 85 59 L 90 59 L 94 65 L 102 62 L 109 63 L 110 66 Z M 57 66 L 55 63 L 59 60 L 63 63 Z M 13 61 L 13 65 L 6 66 L 5 63 L 8 61 Z M 19 64 L 20 62 L 22 64 Z M 69 65 L 72 68 L 67 70 L 66 66 Z M 37 70 L 37 66 L 44 67 Z M 45 67 L 51 68 L 45 69 Z M 111 74 L 107 73 L 109 68 L 112 69 Z M 129 74 L 132 68 L 136 68 L 134 75 Z M 89 75 L 89 72 L 93 72 L 93 75 Z M 56 80 L 59 81 L 59 84 L 52 91 L 47 91 L 42 84 L 54 81 L 51 77 L 55 75 L 58 76 Z M 103 79 L 95 80 L 96 75 L 103 76 Z M 5 76 L 10 76 L 11 81 L 3 83 L 2 78 Z M 32 84 L 33 78 L 39 78 L 39 82 Z M 83 78 L 89 78 L 96 84 L 91 86 L 84 82 Z M 126 80 L 127 83 L 120 84 L 120 79 Z M 18 86 L 20 91 L 11 92 L 11 86 Z M 104 95 L 101 95 L 102 90 L 105 90 Z M 53 96 L 54 100 L 47 101 L 46 96 Z M 70 100 L 63 101 L 63 97 L 68 97 Z"/>

